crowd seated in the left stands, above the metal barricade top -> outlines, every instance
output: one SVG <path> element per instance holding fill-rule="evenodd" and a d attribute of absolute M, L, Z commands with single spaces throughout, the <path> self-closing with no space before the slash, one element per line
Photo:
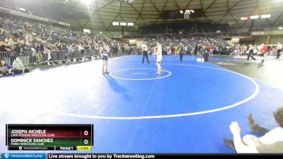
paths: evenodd
<path fill-rule="evenodd" d="M 102 42 L 107 42 L 111 46 L 119 45 L 119 42 L 114 42 L 114 40 L 83 33 L 81 30 L 16 16 L 1 16 L 0 28 L 0 40 L 8 47 L 1 51 L 14 51 L 16 44 L 21 42 L 31 45 L 30 47 L 40 52 L 47 47 L 51 50 L 67 50 L 69 47 L 97 49 Z"/>

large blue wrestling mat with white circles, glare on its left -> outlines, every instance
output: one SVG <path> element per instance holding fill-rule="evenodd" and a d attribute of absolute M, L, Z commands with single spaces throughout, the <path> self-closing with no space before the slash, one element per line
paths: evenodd
<path fill-rule="evenodd" d="M 272 129 L 283 92 L 195 57 L 91 61 L 1 78 L 4 124 L 94 124 L 93 153 L 233 153 L 224 143 L 237 121 L 250 133 L 248 113 Z M 1 131 L 4 143 L 4 131 Z M 6 151 L 4 144 L 1 151 Z"/>

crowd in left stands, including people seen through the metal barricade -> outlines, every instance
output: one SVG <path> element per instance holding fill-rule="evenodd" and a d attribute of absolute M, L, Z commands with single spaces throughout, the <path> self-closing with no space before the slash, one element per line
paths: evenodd
<path fill-rule="evenodd" d="M 59 57 L 59 54 L 54 52 L 64 51 L 61 58 L 64 59 L 66 54 L 75 51 L 79 51 L 78 54 L 88 50 L 98 52 L 103 42 L 110 46 L 112 54 L 117 54 L 119 49 L 123 52 L 130 50 L 125 42 L 83 33 L 82 30 L 74 30 L 63 25 L 51 25 L 6 14 L 0 16 L 0 59 L 6 61 L 8 65 L 12 65 L 16 57 L 20 56 L 25 58 L 22 59 L 25 65 L 40 60 L 50 64 L 50 61 Z M 32 52 L 32 54 L 25 54 L 25 52 Z M 84 59 L 81 58 L 81 60 Z"/>

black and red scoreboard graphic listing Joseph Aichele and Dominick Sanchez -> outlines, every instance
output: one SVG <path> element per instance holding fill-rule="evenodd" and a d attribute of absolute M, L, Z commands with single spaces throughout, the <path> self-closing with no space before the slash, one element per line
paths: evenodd
<path fill-rule="evenodd" d="M 6 124 L 10 151 L 91 151 L 93 124 Z"/>

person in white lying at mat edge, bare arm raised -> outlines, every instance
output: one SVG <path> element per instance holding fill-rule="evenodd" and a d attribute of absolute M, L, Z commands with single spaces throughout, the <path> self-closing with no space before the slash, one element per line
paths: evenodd
<path fill-rule="evenodd" d="M 237 153 L 283 153 L 283 107 L 280 107 L 273 115 L 279 126 L 269 131 L 259 126 L 249 114 L 250 131 L 260 134 L 262 136 L 260 138 L 246 135 L 241 139 L 241 127 L 237 122 L 232 122 L 229 127 L 233 134 L 233 141 L 225 138 L 224 143 Z"/>

